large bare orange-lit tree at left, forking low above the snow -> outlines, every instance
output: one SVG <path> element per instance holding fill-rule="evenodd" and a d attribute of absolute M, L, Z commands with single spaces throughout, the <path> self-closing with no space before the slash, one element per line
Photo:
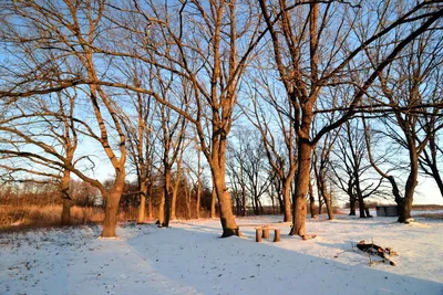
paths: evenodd
<path fill-rule="evenodd" d="M 2 85 L 0 97 L 30 97 L 72 88 L 84 92 L 95 117 L 94 125 L 82 122 L 83 134 L 99 143 L 114 169 L 114 182 L 106 188 L 89 177 L 63 157 L 53 165 L 74 172 L 82 180 L 96 187 L 105 200 L 105 219 L 102 236 L 115 236 L 119 202 L 125 183 L 126 147 L 125 134 L 113 94 L 99 83 L 106 72 L 104 61 L 94 48 L 103 41 L 102 30 L 109 25 L 103 18 L 105 3 L 102 1 L 78 2 L 30 2 L 2 3 L 2 40 L 28 64 L 12 64 L 9 71 L 13 84 Z M 20 22 L 20 28 L 16 23 Z M 25 29 L 24 29 L 25 28 Z M 64 60 L 63 78 L 56 78 L 48 66 L 48 59 L 40 52 L 51 52 L 55 59 Z M 16 60 L 17 62 L 17 60 Z M 82 87 L 82 86 L 83 87 Z M 116 148 L 112 140 L 116 136 Z M 51 152 L 49 148 L 45 150 Z M 61 155 L 59 155 L 61 156 Z"/>

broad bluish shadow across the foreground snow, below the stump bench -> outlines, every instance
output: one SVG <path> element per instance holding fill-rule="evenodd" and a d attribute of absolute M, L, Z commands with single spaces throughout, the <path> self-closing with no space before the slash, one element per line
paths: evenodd
<path fill-rule="evenodd" d="M 300 253 L 305 242 L 284 233 L 285 246 L 293 243 L 293 250 L 256 243 L 250 233 L 215 239 L 220 231 L 212 226 L 208 232 L 200 230 L 205 225 L 186 225 L 127 243 L 155 272 L 204 294 L 442 294 L 441 283 L 391 273 L 390 265 L 349 265 Z M 341 243 L 318 244 L 343 250 Z"/>

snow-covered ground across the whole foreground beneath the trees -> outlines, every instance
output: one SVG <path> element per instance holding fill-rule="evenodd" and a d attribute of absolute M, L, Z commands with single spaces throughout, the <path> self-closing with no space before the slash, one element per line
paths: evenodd
<path fill-rule="evenodd" d="M 219 239 L 218 220 L 121 224 L 115 240 L 96 225 L 2 234 L 0 294 L 443 294 L 442 221 L 309 220 L 308 241 L 279 226 L 280 243 L 256 243 L 253 226 Z M 361 240 L 392 247 L 396 266 L 369 266 Z"/>

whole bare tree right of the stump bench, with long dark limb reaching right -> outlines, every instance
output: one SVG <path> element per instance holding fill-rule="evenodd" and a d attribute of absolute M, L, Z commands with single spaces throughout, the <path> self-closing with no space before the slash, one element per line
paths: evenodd
<path fill-rule="evenodd" d="M 298 172 L 293 200 L 293 228 L 290 234 L 306 235 L 306 196 L 309 189 L 311 151 L 320 138 L 348 120 L 360 105 L 369 87 L 399 53 L 416 36 L 431 28 L 443 14 L 437 3 L 421 2 L 396 13 L 390 3 L 372 8 L 369 2 L 359 6 L 341 1 L 289 2 L 260 0 L 262 17 L 270 33 L 274 60 L 279 77 L 293 107 L 293 125 L 298 137 Z M 425 11 L 425 9 L 429 9 Z M 373 14 L 368 13 L 374 11 Z M 387 13 L 387 12 L 390 13 Z M 391 13 L 392 12 L 392 13 Z M 364 13 L 364 18 L 361 18 Z M 396 14 L 395 14 L 396 13 Z M 390 15 L 390 25 L 385 17 Z M 332 22 L 336 25 L 332 25 Z M 365 34 L 356 32 L 362 22 Z M 371 23 L 371 25 L 368 25 Z M 411 23 L 419 23 L 411 29 Z M 347 73 L 364 70 L 368 60 L 362 53 L 374 41 L 390 42 L 393 29 L 410 28 L 401 42 L 390 46 L 390 53 L 380 60 L 357 86 L 349 102 L 340 102 L 344 112 L 332 124 L 328 124 L 311 135 L 316 106 L 327 87 L 354 82 L 346 80 Z M 358 34 L 358 43 L 350 39 Z M 356 39 L 353 39 L 356 40 Z M 349 48 L 353 48 L 350 50 Z M 338 107 L 336 105 L 334 107 Z"/>

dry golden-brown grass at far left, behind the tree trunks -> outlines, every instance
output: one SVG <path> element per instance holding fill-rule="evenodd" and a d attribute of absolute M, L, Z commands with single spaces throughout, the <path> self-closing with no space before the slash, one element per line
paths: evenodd
<path fill-rule="evenodd" d="M 62 207 L 52 206 L 0 206 L 0 231 L 13 231 L 30 228 L 58 226 Z M 104 218 L 101 208 L 73 207 L 71 224 L 100 223 Z"/>

